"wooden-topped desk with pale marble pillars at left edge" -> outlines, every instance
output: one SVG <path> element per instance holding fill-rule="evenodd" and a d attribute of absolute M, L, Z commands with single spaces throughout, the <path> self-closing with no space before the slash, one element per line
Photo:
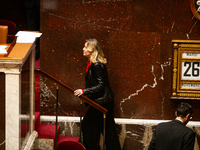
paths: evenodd
<path fill-rule="evenodd" d="M 20 150 L 21 147 L 21 71 L 30 56 L 30 128 L 34 131 L 34 68 L 35 43 L 8 45 L 8 54 L 0 56 L 0 72 L 5 73 L 5 149 Z M 29 137 L 27 139 L 29 140 Z"/>

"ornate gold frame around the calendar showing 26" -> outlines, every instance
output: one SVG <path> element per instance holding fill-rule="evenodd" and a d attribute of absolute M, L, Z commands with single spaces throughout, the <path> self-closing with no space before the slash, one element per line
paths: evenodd
<path fill-rule="evenodd" d="M 182 61 L 197 61 L 193 58 L 182 58 L 183 52 L 200 52 L 200 40 L 199 41 L 192 41 L 192 40 L 181 40 L 179 42 L 172 40 L 172 50 L 173 50 L 173 67 L 172 67 L 172 97 L 185 97 L 185 98 L 199 98 L 200 91 L 198 92 L 197 89 L 181 89 L 180 84 L 184 82 L 200 82 L 200 80 L 190 81 L 190 80 L 183 80 L 181 77 L 182 72 Z M 199 60 L 199 59 L 198 59 Z"/>

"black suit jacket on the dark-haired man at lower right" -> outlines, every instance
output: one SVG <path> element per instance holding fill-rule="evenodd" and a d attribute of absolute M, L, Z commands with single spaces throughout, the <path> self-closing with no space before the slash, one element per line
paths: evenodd
<path fill-rule="evenodd" d="M 158 124 L 149 150 L 193 150 L 194 142 L 195 132 L 175 119 Z"/>

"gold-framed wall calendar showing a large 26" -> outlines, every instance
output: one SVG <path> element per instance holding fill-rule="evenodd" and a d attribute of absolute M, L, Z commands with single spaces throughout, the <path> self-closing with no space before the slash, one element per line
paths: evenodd
<path fill-rule="evenodd" d="M 200 100 L 200 41 L 173 40 L 172 99 Z"/>

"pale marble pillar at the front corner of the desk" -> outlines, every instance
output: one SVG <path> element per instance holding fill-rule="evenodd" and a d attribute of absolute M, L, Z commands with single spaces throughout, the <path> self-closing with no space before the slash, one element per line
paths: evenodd
<path fill-rule="evenodd" d="M 5 72 L 6 150 L 19 150 L 21 145 L 21 73 Z"/>

